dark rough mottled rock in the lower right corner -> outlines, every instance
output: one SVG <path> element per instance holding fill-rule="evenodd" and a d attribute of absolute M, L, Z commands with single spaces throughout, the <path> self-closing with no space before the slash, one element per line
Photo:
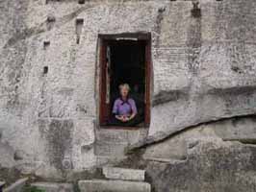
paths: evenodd
<path fill-rule="evenodd" d="M 254 146 L 212 141 L 199 142 L 185 161 L 151 161 L 147 173 L 157 191 L 253 192 L 255 168 Z"/>

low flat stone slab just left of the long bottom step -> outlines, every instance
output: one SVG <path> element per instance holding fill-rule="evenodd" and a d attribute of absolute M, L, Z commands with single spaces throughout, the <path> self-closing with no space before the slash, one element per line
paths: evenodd
<path fill-rule="evenodd" d="M 73 192 L 73 184 L 59 182 L 34 182 L 31 186 L 44 192 Z"/>

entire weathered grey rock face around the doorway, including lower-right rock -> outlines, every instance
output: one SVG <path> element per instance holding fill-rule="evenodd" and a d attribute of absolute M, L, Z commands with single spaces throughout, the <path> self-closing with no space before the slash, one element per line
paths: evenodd
<path fill-rule="evenodd" d="M 0 165 L 65 180 L 142 147 L 157 191 L 250 191 L 255 9 L 254 0 L 0 1 Z M 98 35 L 139 32 L 152 36 L 150 127 L 109 140 L 97 132 Z"/>

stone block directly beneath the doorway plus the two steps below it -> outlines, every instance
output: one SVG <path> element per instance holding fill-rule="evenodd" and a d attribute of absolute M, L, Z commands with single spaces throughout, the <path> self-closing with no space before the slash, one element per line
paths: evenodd
<path fill-rule="evenodd" d="M 80 180 L 81 192 L 150 192 L 151 185 L 145 182 L 145 171 L 115 167 L 127 158 L 125 149 L 144 139 L 147 129 L 96 130 L 94 153 L 97 166 L 102 168 L 103 179 Z"/>

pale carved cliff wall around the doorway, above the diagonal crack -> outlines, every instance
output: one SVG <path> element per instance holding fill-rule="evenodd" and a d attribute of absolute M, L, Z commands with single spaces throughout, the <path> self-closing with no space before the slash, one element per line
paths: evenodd
<path fill-rule="evenodd" d="M 18 155 L 2 166 L 64 178 L 97 165 L 98 34 L 152 35 L 151 124 L 131 148 L 254 114 L 255 9 L 254 0 L 0 1 L 0 138 Z M 243 132 L 255 138 L 244 128 L 235 140 Z"/>

